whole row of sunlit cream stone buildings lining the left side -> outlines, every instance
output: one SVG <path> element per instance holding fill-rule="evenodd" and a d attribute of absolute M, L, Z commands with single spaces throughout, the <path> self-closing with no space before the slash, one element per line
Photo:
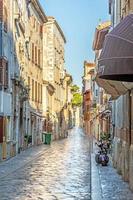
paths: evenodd
<path fill-rule="evenodd" d="M 65 136 L 72 110 L 65 43 L 38 0 L 0 0 L 0 160 L 41 144 L 44 131 Z"/>

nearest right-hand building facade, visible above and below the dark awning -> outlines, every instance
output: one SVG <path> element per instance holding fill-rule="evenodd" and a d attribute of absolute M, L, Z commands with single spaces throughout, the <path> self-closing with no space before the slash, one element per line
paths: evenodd
<path fill-rule="evenodd" d="M 115 10 L 114 10 L 115 8 Z M 133 13 L 133 2 L 121 0 L 112 1 L 110 4 L 112 24 L 115 27 L 128 14 Z M 126 83 L 125 83 L 126 84 Z M 113 124 L 114 124 L 114 166 L 122 174 L 124 180 L 129 181 L 133 189 L 133 144 L 132 144 L 132 84 L 125 95 L 120 96 L 113 103 Z"/>

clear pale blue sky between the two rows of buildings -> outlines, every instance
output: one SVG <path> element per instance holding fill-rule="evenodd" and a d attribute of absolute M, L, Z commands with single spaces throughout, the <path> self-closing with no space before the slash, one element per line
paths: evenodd
<path fill-rule="evenodd" d="M 108 0 L 40 0 L 47 16 L 54 16 L 67 43 L 66 69 L 81 86 L 84 60 L 93 61 L 92 41 L 99 20 L 106 21 Z"/>

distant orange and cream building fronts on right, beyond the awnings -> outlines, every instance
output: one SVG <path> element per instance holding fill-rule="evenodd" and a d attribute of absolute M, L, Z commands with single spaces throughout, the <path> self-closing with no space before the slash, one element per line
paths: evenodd
<path fill-rule="evenodd" d="M 111 109 L 108 104 L 110 96 L 96 83 L 96 67 L 97 61 L 84 62 L 83 114 L 86 134 L 100 140 L 104 135 L 110 135 Z"/>

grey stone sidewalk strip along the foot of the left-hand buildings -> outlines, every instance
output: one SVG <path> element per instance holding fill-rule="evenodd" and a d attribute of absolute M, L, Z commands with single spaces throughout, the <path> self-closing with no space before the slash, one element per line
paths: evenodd
<path fill-rule="evenodd" d="M 0 163 L 0 179 L 8 176 L 10 173 L 16 171 L 17 169 L 25 166 L 32 160 L 38 158 L 44 151 L 49 149 L 50 146 L 48 145 L 39 145 L 30 147 L 22 151 L 20 154 L 17 154 L 15 157 L 10 158 L 6 161 Z"/>

